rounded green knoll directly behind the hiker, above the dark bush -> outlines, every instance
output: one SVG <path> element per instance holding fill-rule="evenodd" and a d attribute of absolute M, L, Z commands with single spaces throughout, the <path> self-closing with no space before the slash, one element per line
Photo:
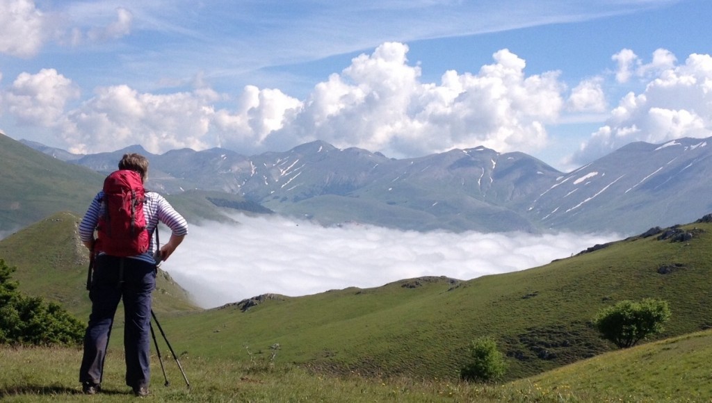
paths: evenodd
<path fill-rule="evenodd" d="M 38 221 L 0 241 L 0 258 L 17 271 L 13 279 L 29 295 L 61 303 L 79 318 L 90 312 L 86 291 L 89 254 L 78 236 L 80 217 L 62 212 Z M 154 293 L 157 312 L 196 309 L 168 273 L 159 272 Z"/>

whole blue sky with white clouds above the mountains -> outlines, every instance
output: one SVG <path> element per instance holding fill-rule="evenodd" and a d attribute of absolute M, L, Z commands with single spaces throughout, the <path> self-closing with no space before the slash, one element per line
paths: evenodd
<path fill-rule="evenodd" d="M 712 1 L 0 0 L 0 130 L 78 153 L 712 135 Z"/>

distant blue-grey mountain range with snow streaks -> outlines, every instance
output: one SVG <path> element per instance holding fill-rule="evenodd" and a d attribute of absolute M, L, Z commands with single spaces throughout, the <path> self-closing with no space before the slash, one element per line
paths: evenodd
<path fill-rule="evenodd" d="M 150 159 L 152 189 L 232 195 L 244 201 L 224 206 L 324 225 L 356 221 L 417 231 L 629 235 L 689 222 L 712 210 L 708 140 L 635 142 L 568 173 L 522 152 L 486 147 L 394 159 L 321 141 L 253 156 L 221 148 L 153 155 L 139 145 L 72 155 L 24 144 L 101 173 L 115 169 L 123 153 L 140 152 Z"/>

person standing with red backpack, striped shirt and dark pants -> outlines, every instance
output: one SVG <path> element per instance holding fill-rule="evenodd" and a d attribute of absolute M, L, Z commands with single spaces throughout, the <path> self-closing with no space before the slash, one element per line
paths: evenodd
<path fill-rule="evenodd" d="M 118 202 L 111 198 L 112 194 L 116 194 L 116 185 L 108 184 L 115 174 L 120 174 L 137 189 L 129 191 L 128 197 L 126 194 L 119 196 Z M 88 286 L 92 310 L 79 370 L 79 382 L 87 394 L 100 390 L 109 336 L 121 299 L 125 314 L 126 384 L 137 396 L 149 393 L 151 293 L 156 286 L 157 261 L 159 263 L 171 256 L 188 233 L 188 224 L 161 195 L 144 191 L 147 174 L 148 160 L 145 157 L 134 153 L 124 155 L 119 162 L 119 171 L 107 177 L 103 190 L 94 197 L 79 225 L 81 241 L 95 256 L 93 276 Z M 132 194 L 138 201 L 130 201 Z M 142 210 L 142 216 L 134 214 L 133 207 L 121 208 L 119 213 L 107 208 L 121 200 L 127 203 L 127 199 L 129 202 L 124 206 L 135 204 L 135 210 Z M 143 199 L 142 204 L 140 199 Z M 132 215 L 125 218 L 121 214 L 129 214 L 127 210 Z M 117 225 L 126 226 L 127 223 L 117 223 L 119 220 L 135 220 L 129 225 L 130 233 L 135 236 L 129 243 L 120 238 L 122 229 Z M 157 236 L 152 234 L 157 231 L 159 221 L 168 226 L 172 234 L 169 241 L 158 249 L 154 242 Z M 145 231 L 142 231 L 142 225 L 145 225 Z M 135 227 L 140 230 L 139 234 L 135 234 Z M 94 238 L 95 230 L 97 239 Z"/>

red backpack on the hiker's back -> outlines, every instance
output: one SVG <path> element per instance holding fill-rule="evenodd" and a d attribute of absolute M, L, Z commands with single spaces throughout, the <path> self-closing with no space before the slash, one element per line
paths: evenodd
<path fill-rule="evenodd" d="M 138 172 L 121 169 L 106 177 L 103 214 L 100 214 L 97 225 L 96 251 L 126 257 L 148 250 L 144 195 L 145 189 Z"/>

